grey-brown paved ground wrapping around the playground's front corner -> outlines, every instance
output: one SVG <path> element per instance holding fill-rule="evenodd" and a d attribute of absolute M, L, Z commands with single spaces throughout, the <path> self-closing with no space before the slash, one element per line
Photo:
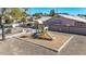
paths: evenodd
<path fill-rule="evenodd" d="M 0 41 L 0 55 L 85 55 L 86 36 L 75 35 L 74 38 L 60 51 L 28 43 L 16 38 Z"/>

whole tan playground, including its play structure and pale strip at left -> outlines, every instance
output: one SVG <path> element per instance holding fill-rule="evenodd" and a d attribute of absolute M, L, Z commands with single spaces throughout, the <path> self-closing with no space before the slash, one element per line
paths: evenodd
<path fill-rule="evenodd" d="M 17 38 L 24 42 L 34 43 L 42 48 L 60 52 L 64 46 L 73 38 L 70 34 L 62 34 L 48 30 L 48 27 L 44 25 L 41 21 L 35 23 L 35 29 L 23 28 L 22 33 L 12 34 L 5 38 Z"/>

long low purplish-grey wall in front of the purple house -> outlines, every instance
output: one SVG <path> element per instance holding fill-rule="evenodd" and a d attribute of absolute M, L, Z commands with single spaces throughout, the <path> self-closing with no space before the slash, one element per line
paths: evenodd
<path fill-rule="evenodd" d="M 86 27 L 53 25 L 49 26 L 49 29 L 54 31 L 86 35 Z"/>

